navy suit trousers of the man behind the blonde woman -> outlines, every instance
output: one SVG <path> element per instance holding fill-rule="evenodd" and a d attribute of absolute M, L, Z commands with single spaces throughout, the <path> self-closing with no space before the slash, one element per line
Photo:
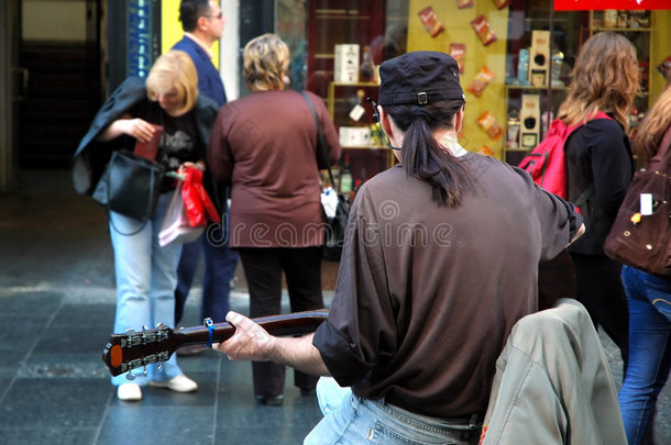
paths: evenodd
<path fill-rule="evenodd" d="M 205 257 L 201 320 L 210 318 L 215 323 L 224 322 L 230 310 L 231 279 L 238 266 L 238 253 L 229 248 L 228 240 L 221 235 L 221 227 L 213 224 L 198 240 L 182 248 L 175 289 L 175 326 L 184 315 L 184 305 L 194 283 L 201 252 Z"/>

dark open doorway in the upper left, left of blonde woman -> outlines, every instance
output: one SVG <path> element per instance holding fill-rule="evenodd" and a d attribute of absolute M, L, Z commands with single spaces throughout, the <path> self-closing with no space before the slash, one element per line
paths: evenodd
<path fill-rule="evenodd" d="M 19 0 L 21 168 L 69 168 L 102 100 L 101 0 Z"/>

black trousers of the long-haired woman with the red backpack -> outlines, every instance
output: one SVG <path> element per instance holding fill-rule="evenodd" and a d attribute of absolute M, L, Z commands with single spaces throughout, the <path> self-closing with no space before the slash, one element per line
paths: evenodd
<path fill-rule="evenodd" d="M 575 265 L 578 300 L 619 347 L 624 370 L 629 358 L 629 311 L 622 283 L 622 265 L 607 256 L 571 253 Z"/>

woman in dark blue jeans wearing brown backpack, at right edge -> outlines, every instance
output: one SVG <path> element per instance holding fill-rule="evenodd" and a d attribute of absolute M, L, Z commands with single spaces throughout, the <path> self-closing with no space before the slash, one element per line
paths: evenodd
<path fill-rule="evenodd" d="M 671 149 L 671 84 L 646 113 L 634 152 L 646 168 L 667 176 L 670 166 L 661 159 Z M 670 233 L 660 233 L 669 245 Z M 623 267 L 622 280 L 629 303 L 629 364 L 619 391 L 619 405 L 629 445 L 644 441 L 646 426 L 671 369 L 671 279 Z M 651 434 L 651 430 L 647 432 Z"/>

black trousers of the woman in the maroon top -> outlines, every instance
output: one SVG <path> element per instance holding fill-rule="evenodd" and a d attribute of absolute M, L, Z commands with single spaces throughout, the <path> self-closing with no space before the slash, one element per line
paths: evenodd
<path fill-rule="evenodd" d="M 282 311 L 282 272 L 286 277 L 292 312 L 323 308 L 321 294 L 322 247 L 239 248 L 250 289 L 250 316 L 275 315 Z M 253 361 L 255 396 L 284 393 L 285 367 L 272 361 Z M 294 371 L 294 385 L 311 389 L 318 377 Z"/>

